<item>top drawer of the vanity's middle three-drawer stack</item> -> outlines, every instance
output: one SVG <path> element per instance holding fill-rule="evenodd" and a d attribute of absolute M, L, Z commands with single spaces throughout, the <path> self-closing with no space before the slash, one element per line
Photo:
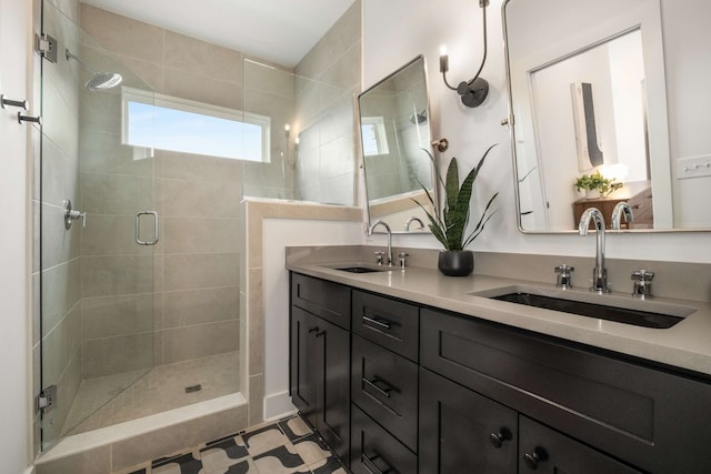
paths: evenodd
<path fill-rule="evenodd" d="M 419 314 L 412 304 L 353 290 L 353 332 L 415 362 Z"/>

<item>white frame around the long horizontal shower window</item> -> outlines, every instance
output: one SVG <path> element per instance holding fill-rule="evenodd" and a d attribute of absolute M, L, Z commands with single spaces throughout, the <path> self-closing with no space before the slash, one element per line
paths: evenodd
<path fill-rule="evenodd" d="M 133 145 L 133 147 L 143 147 L 140 144 L 137 145 L 137 144 L 129 143 L 129 102 L 139 102 L 148 105 L 162 107 L 162 108 L 173 109 L 178 111 L 191 112 L 191 113 L 197 113 L 201 115 L 258 125 L 262 130 L 261 160 L 253 160 L 253 159 L 250 159 L 249 157 L 237 158 L 237 157 L 219 155 L 219 158 L 226 158 L 230 160 L 251 161 L 257 163 L 269 163 L 271 161 L 271 157 L 270 157 L 271 118 L 270 117 L 261 115 L 252 112 L 243 112 L 237 109 L 229 109 L 226 107 L 213 105 L 210 103 L 198 102 L 189 99 L 182 99 L 173 95 L 166 95 L 166 94 L 156 93 L 156 92 L 126 87 L 126 85 L 121 88 L 121 143 L 123 144 Z M 162 148 L 158 148 L 158 149 L 163 150 Z M 180 149 L 166 149 L 166 150 L 194 153 L 191 151 L 186 151 Z M 206 153 L 206 155 L 212 157 L 213 154 Z"/>

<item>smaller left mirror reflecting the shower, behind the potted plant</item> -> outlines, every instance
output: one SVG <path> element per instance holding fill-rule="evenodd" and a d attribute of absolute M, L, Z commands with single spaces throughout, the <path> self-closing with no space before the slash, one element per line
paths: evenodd
<path fill-rule="evenodd" d="M 429 232 L 417 202 L 430 206 L 433 168 L 424 57 L 418 56 L 358 97 L 367 219 L 393 233 Z M 417 200 L 417 202 L 415 202 Z"/>

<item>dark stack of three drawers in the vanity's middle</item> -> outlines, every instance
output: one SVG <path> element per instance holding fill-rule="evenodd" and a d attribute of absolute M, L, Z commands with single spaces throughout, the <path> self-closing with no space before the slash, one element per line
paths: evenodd
<path fill-rule="evenodd" d="M 420 309 L 353 290 L 351 470 L 417 473 Z"/>

